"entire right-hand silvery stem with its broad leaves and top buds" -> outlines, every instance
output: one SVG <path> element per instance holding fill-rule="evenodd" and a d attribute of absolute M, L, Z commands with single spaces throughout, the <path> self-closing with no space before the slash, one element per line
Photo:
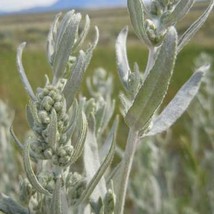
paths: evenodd
<path fill-rule="evenodd" d="M 119 76 L 125 89 L 121 96 L 122 113 L 130 132 L 120 168 L 113 179 L 117 214 L 124 212 L 128 178 L 138 143 L 146 135 L 166 131 L 176 122 L 196 95 L 201 79 L 209 67 L 200 67 L 163 112 L 157 113 L 167 93 L 177 54 L 199 30 L 214 6 L 214 1 L 211 0 L 206 11 L 180 36 L 176 24 L 194 3 L 194 0 L 154 0 L 146 5 L 143 0 L 128 0 L 133 28 L 148 47 L 149 57 L 143 75 L 139 75 L 138 66 L 131 71 L 124 47 L 128 28 L 124 28 L 117 38 L 116 55 Z"/>

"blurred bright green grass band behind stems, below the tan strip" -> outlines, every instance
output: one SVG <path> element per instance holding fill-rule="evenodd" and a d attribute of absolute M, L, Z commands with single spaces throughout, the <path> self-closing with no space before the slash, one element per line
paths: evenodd
<path fill-rule="evenodd" d="M 135 61 L 139 63 L 141 70 L 145 68 L 145 62 L 147 60 L 146 50 L 139 45 L 132 44 L 129 47 L 129 60 L 130 65 L 133 65 Z M 193 60 L 201 52 L 206 52 L 210 56 L 214 57 L 214 46 L 204 47 L 195 44 L 188 45 L 185 50 L 178 56 L 176 62 L 175 73 L 172 77 L 171 89 L 169 90 L 168 98 L 172 97 L 177 89 L 184 83 L 185 79 L 189 77 L 193 71 Z M 140 55 L 138 53 L 141 53 Z M 86 76 L 93 73 L 94 69 L 98 67 L 104 67 L 108 72 L 114 75 L 114 81 L 118 82 L 117 68 L 115 64 L 115 50 L 113 46 L 101 45 L 94 51 L 94 57 L 88 68 Z M 30 47 L 26 48 L 23 55 L 23 61 L 25 70 L 28 74 L 29 80 L 33 87 L 42 86 L 45 79 L 38 77 L 42 74 L 50 75 L 50 67 L 47 63 L 45 49 L 34 49 Z M 14 126 L 18 130 L 18 133 L 22 135 L 27 127 L 25 120 L 25 103 L 28 100 L 27 95 L 24 93 L 24 89 L 21 85 L 19 76 L 17 75 L 16 68 L 16 49 L 13 48 L 1 48 L 0 51 L 0 97 L 1 99 L 8 101 L 10 106 L 13 106 L 16 112 L 16 119 Z M 11 78 L 12 77 L 12 78 Z M 121 85 L 115 84 L 114 97 L 117 98 Z M 83 88 L 85 95 L 88 95 L 86 88 Z M 125 138 L 125 136 L 124 136 Z"/>

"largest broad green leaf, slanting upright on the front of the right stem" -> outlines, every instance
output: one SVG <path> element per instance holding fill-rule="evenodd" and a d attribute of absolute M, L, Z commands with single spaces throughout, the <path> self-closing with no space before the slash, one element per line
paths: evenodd
<path fill-rule="evenodd" d="M 177 33 L 171 27 L 158 57 L 125 116 L 129 127 L 143 129 L 162 103 L 172 76 L 177 48 Z"/>

